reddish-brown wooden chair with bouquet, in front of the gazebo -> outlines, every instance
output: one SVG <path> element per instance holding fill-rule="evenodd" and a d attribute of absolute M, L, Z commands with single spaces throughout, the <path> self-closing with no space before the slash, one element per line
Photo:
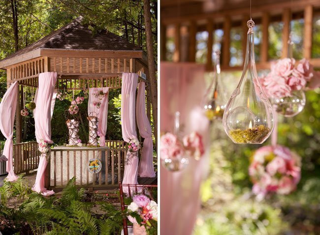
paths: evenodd
<path fill-rule="evenodd" d="M 121 211 L 124 212 L 126 207 L 128 207 L 128 205 L 125 204 L 125 194 L 123 189 L 124 188 L 128 188 L 128 193 L 129 193 L 129 197 L 131 197 L 131 190 L 134 191 L 135 193 L 138 193 L 138 188 L 141 187 L 142 188 L 142 194 L 146 195 L 148 194 L 148 197 L 151 200 L 154 200 L 153 196 L 152 196 L 152 192 L 154 188 L 158 188 L 158 185 L 147 185 L 147 184 L 123 184 L 121 182 L 119 182 L 119 190 L 120 190 L 120 204 L 121 204 Z M 128 235 L 128 221 L 127 221 L 127 217 L 123 216 L 123 227 L 124 227 L 124 235 Z"/>

